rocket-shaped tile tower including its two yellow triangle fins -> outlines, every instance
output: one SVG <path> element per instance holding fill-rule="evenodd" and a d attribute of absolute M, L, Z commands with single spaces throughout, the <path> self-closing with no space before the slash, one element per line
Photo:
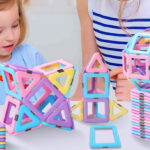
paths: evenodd
<path fill-rule="evenodd" d="M 103 123 L 127 114 L 125 107 L 115 100 L 109 100 L 109 83 L 109 72 L 103 59 L 99 53 L 94 53 L 83 71 L 83 98 L 71 107 L 72 117 L 88 123 Z M 115 108 L 120 112 L 115 113 Z"/>

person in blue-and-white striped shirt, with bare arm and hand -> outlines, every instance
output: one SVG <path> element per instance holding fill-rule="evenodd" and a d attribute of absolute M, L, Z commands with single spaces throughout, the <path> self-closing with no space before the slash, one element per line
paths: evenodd
<path fill-rule="evenodd" d="M 77 0 L 81 24 L 82 69 L 100 52 L 110 71 L 117 100 L 130 100 L 128 82 L 122 73 L 122 50 L 130 37 L 150 27 L 149 0 Z M 72 100 L 82 97 L 82 78 Z"/>

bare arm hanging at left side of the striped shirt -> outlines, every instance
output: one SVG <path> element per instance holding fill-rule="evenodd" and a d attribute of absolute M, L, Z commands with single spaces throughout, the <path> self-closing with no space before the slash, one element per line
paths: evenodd
<path fill-rule="evenodd" d="M 88 64 L 92 55 L 98 52 L 96 39 L 93 31 L 92 20 L 88 13 L 88 0 L 77 0 L 77 11 L 81 26 L 81 41 L 82 41 L 82 71 L 79 75 L 77 89 L 71 100 L 82 99 L 82 72 Z"/>

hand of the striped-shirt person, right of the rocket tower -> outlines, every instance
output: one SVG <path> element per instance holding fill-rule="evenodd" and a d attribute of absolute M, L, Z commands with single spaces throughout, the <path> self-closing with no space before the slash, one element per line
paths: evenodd
<path fill-rule="evenodd" d="M 116 80 L 116 97 L 118 101 L 130 101 L 131 89 L 135 86 L 123 74 L 122 67 L 110 71 L 110 78 Z"/>

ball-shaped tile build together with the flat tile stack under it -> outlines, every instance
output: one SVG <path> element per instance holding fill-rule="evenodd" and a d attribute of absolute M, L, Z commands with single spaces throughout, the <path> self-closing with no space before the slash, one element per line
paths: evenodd
<path fill-rule="evenodd" d="M 123 51 L 123 72 L 131 91 L 132 134 L 150 141 L 150 33 L 135 34 Z"/>

